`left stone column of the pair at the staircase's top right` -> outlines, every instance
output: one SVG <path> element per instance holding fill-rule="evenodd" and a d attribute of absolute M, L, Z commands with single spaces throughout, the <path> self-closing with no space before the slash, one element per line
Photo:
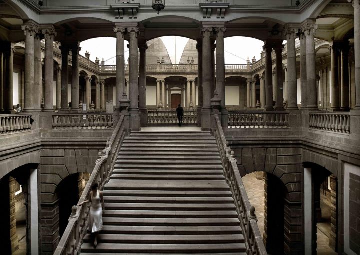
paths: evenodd
<path fill-rule="evenodd" d="M 201 130 L 210 130 L 211 127 L 211 32 L 212 27 L 203 27 L 202 31 L 202 109 Z M 213 92 L 213 91 L 212 91 Z"/>

